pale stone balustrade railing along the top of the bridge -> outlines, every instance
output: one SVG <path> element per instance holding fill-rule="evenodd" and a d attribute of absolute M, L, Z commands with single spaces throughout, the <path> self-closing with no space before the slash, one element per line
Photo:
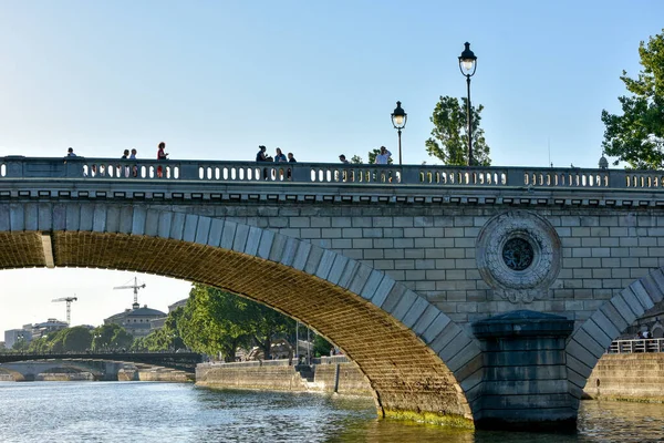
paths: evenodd
<path fill-rule="evenodd" d="M 0 182 L 13 178 L 188 181 L 531 188 L 663 189 L 664 172 L 438 165 L 257 163 L 198 159 L 0 157 Z"/>

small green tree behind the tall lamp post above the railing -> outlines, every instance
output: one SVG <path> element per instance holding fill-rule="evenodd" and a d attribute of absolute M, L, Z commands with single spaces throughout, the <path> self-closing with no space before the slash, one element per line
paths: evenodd
<path fill-rule="evenodd" d="M 467 99 L 442 96 L 430 117 L 434 128 L 432 136 L 425 142 L 426 152 L 432 157 L 439 158 L 446 165 L 465 166 L 468 164 L 468 117 L 466 113 Z M 489 166 L 489 146 L 479 127 L 480 113 L 484 110 L 471 106 L 473 114 L 473 158 L 476 166 Z"/>

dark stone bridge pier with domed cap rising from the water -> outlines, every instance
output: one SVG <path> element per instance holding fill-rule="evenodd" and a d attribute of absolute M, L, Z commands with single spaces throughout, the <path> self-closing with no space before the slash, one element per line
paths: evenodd
<path fill-rule="evenodd" d="M 570 393 L 566 339 L 573 321 L 519 310 L 473 324 L 484 380 L 474 404 L 478 429 L 574 432 L 579 399 Z"/>

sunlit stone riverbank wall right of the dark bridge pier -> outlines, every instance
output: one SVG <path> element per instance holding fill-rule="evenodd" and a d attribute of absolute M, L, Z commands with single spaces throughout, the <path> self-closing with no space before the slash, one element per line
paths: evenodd
<path fill-rule="evenodd" d="M 664 353 L 606 353 L 584 392 L 593 400 L 664 402 Z"/>

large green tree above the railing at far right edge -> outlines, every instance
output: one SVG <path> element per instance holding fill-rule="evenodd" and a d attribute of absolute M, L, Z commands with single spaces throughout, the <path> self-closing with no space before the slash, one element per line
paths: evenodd
<path fill-rule="evenodd" d="M 664 29 L 663 33 L 641 42 L 639 55 L 643 70 L 637 79 L 623 81 L 630 96 L 620 96 L 622 115 L 602 111 L 606 126 L 602 147 L 618 157 L 614 164 L 626 162 L 636 169 L 658 169 L 664 166 Z"/>

